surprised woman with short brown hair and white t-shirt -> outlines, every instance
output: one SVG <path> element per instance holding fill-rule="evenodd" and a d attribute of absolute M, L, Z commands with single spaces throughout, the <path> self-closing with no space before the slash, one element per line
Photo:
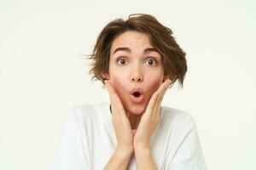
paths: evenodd
<path fill-rule="evenodd" d="M 113 20 L 90 59 L 110 103 L 73 107 L 53 169 L 207 169 L 193 117 L 161 106 L 187 71 L 171 29 L 149 14 Z"/>

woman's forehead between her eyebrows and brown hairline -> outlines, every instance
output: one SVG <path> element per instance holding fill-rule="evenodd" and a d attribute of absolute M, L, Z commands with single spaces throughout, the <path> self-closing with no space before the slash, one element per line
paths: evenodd
<path fill-rule="evenodd" d="M 125 31 L 113 40 L 110 52 L 119 47 L 129 48 L 149 48 L 152 45 L 149 42 L 149 37 L 146 33 L 139 31 Z"/>

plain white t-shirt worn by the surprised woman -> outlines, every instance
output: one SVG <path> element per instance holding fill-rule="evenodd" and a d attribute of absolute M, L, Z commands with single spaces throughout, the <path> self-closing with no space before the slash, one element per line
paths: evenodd
<path fill-rule="evenodd" d="M 52 170 L 102 170 L 116 149 L 110 103 L 77 105 L 68 111 Z M 206 170 L 193 117 L 161 106 L 151 138 L 151 152 L 160 170 Z M 135 170 L 133 155 L 127 167 Z"/>

